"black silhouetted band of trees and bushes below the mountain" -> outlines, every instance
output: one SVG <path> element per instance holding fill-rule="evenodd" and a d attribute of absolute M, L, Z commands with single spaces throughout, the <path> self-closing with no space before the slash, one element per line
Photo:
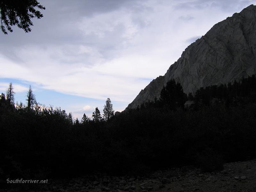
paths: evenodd
<path fill-rule="evenodd" d="M 214 171 L 256 155 L 255 76 L 195 95 L 171 80 L 159 100 L 115 116 L 107 100 L 104 118 L 96 108 L 94 120 L 84 114 L 81 121 L 36 102 L 15 106 L 8 90 L 0 99 L 2 178 L 142 174 L 183 165 Z"/>

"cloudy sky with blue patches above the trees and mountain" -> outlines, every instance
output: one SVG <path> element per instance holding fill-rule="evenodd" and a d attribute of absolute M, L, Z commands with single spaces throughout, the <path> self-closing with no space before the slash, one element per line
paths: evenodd
<path fill-rule="evenodd" d="M 103 112 L 107 98 L 123 111 L 164 75 L 188 45 L 256 0 L 38 0 L 32 31 L 0 34 L 0 93 L 12 82 L 15 101 L 37 102 L 73 117 Z"/>

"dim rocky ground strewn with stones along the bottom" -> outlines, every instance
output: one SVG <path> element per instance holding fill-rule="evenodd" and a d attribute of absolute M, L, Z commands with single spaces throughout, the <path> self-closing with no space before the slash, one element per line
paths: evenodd
<path fill-rule="evenodd" d="M 37 186 L 30 186 L 30 189 L 28 186 L 22 186 L 22 188 L 18 186 L 21 184 L 10 185 L 7 185 L 9 189 L 0 189 L 0 192 L 255 192 L 256 159 L 224 164 L 224 170 L 212 173 L 204 173 L 193 167 L 182 167 L 157 171 L 148 177 L 115 177 L 106 174 L 95 174 L 68 181 L 49 180 L 46 185 L 37 184 Z M 16 186 L 19 188 L 12 188 Z"/>

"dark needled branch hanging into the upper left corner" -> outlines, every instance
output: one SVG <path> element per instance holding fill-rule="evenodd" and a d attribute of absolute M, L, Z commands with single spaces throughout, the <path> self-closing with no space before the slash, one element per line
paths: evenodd
<path fill-rule="evenodd" d="M 1 30 L 6 35 L 6 29 L 12 32 L 11 26 L 17 25 L 23 29 L 26 33 L 30 32 L 30 26 L 33 26 L 32 18 L 36 17 L 41 19 L 43 14 L 40 11 L 36 11 L 35 8 L 45 9 L 36 0 L 0 0 L 0 18 L 1 18 Z"/>

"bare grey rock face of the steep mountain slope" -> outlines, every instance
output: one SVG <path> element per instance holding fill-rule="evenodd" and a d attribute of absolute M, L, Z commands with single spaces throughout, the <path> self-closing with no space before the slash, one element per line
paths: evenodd
<path fill-rule="evenodd" d="M 128 105 L 160 97 L 168 80 L 180 82 L 184 92 L 195 93 L 200 87 L 227 84 L 256 74 L 256 6 L 250 5 L 215 24 L 204 36 L 189 45 L 181 57 L 141 90 Z"/>

